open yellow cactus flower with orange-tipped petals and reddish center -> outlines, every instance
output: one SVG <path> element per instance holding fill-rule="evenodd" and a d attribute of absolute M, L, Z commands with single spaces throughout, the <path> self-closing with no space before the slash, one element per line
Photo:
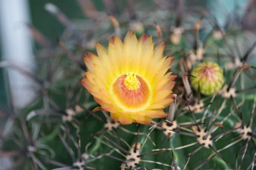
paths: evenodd
<path fill-rule="evenodd" d="M 165 117 L 163 108 L 173 100 L 176 76 L 166 72 L 174 57 L 163 57 L 164 47 L 162 42 L 154 48 L 146 34 L 137 40 L 131 31 L 124 42 L 111 37 L 108 50 L 96 43 L 99 57 L 85 54 L 89 71 L 81 83 L 112 119 L 123 125 L 147 125 L 153 118 Z"/>

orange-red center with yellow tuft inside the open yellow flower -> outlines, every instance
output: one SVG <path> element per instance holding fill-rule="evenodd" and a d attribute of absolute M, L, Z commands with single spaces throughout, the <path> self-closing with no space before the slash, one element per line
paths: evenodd
<path fill-rule="evenodd" d="M 132 73 L 119 77 L 113 84 L 113 92 L 123 109 L 139 109 L 149 99 L 147 83 L 140 76 Z"/>

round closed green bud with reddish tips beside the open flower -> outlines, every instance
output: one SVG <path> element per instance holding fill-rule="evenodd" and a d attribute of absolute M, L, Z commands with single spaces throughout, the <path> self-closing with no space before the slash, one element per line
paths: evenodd
<path fill-rule="evenodd" d="M 190 78 L 192 87 L 198 91 L 200 85 L 200 93 L 204 95 L 217 93 L 224 84 L 223 71 L 215 62 L 201 62 L 191 74 L 197 77 Z"/>

